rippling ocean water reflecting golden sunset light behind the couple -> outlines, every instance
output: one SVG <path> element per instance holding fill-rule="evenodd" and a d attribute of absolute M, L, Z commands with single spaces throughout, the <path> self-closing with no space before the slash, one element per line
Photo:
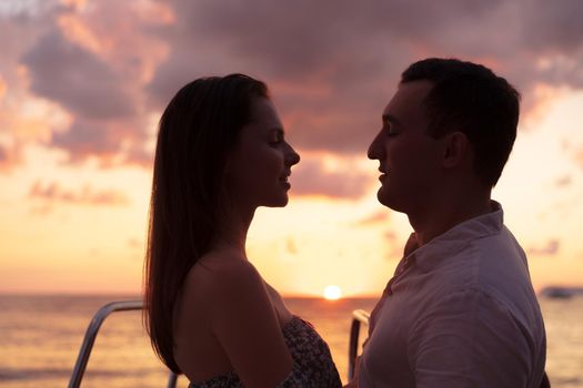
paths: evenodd
<path fill-rule="evenodd" d="M 0 387 L 67 387 L 96 310 L 135 296 L 0 295 Z M 329 343 L 343 381 L 352 310 L 374 299 L 285 298 Z M 541 297 L 547 333 L 546 371 L 553 387 L 583 388 L 583 297 Z M 361 330 L 361 337 L 365 334 Z M 165 387 L 168 372 L 153 355 L 138 312 L 111 315 L 89 359 L 82 387 Z M 178 387 L 188 381 L 179 378 Z"/>

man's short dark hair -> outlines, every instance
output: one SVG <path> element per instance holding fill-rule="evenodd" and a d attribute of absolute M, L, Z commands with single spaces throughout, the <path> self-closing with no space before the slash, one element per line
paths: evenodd
<path fill-rule="evenodd" d="M 456 59 L 425 59 L 401 75 L 401 83 L 422 80 L 433 84 L 424 101 L 430 135 L 465 133 L 476 174 L 494 186 L 516 139 L 520 93 L 486 67 Z"/>

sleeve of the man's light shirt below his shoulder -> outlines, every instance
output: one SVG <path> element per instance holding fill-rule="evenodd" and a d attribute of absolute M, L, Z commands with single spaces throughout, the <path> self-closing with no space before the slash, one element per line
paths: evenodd
<path fill-rule="evenodd" d="M 501 303 L 464 290 L 430 308 L 410 331 L 418 388 L 527 387 L 533 340 Z"/>

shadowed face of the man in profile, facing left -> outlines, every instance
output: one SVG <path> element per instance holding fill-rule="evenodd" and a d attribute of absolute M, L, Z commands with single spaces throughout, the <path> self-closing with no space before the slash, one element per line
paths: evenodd
<path fill-rule="evenodd" d="M 440 178 L 443 146 L 428 134 L 423 106 L 432 84 L 414 81 L 399 85 L 384 109 L 381 132 L 369 146 L 369 159 L 380 162 L 379 202 L 409 215 L 431 206 Z"/>

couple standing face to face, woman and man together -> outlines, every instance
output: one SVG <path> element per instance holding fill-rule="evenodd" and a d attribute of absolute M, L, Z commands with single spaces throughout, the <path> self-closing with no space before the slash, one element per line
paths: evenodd
<path fill-rule="evenodd" d="M 402 74 L 369 147 L 379 201 L 414 233 L 372 312 L 349 387 L 539 387 L 545 333 L 524 252 L 490 198 L 519 93 L 489 69 Z M 328 345 L 245 255 L 258 206 L 285 206 L 300 156 L 264 83 L 199 79 L 165 109 L 145 266 L 154 350 L 190 387 L 341 387 Z"/>

